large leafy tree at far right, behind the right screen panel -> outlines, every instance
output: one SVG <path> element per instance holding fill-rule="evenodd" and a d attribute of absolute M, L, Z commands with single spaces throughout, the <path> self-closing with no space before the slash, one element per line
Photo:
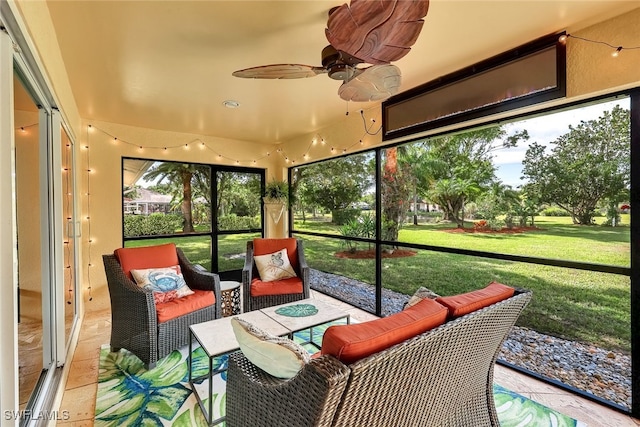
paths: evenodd
<path fill-rule="evenodd" d="M 543 203 L 567 211 L 574 224 L 592 224 L 598 203 L 629 197 L 629 120 L 629 111 L 616 106 L 569 126 L 549 153 L 534 142 L 522 162 L 528 187 Z"/>

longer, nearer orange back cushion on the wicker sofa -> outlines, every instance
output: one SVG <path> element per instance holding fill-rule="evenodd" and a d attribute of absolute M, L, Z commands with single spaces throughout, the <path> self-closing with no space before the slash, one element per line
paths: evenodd
<path fill-rule="evenodd" d="M 330 326 L 322 338 L 321 352 L 343 363 L 353 363 L 440 326 L 446 319 L 446 307 L 424 299 L 382 319 Z"/>

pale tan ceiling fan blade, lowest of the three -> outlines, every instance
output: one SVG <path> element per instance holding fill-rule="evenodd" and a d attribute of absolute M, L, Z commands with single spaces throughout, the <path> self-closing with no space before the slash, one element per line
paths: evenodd
<path fill-rule="evenodd" d="M 374 65 L 340 85 L 338 95 L 345 101 L 380 101 L 398 93 L 400 80 L 400 69 L 395 65 Z"/>

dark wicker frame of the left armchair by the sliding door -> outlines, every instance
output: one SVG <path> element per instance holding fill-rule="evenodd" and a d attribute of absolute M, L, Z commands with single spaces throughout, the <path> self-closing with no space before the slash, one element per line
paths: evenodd
<path fill-rule="evenodd" d="M 174 250 L 187 286 L 192 290 L 212 291 L 215 304 L 165 322 L 158 321 L 153 292 L 136 285 L 116 255 L 102 257 L 111 297 L 111 351 L 126 348 L 138 356 L 147 369 L 189 343 L 189 325 L 222 317 L 218 275 L 196 269 L 180 249 Z"/>

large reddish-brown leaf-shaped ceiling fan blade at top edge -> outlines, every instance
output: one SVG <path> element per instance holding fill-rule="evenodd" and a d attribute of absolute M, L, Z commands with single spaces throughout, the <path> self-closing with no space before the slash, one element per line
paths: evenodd
<path fill-rule="evenodd" d="M 428 10 L 429 0 L 351 0 L 331 12 L 325 33 L 337 50 L 388 64 L 409 53 Z"/>

